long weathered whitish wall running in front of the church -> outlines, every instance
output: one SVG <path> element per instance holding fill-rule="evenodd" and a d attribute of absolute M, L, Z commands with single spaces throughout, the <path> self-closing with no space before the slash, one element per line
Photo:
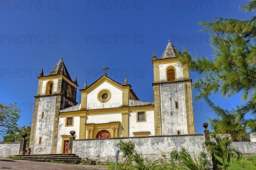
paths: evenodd
<path fill-rule="evenodd" d="M 197 156 L 203 151 L 203 134 L 197 135 L 173 135 L 173 136 L 149 136 L 113 139 L 78 139 L 73 142 L 73 153 L 81 158 L 94 159 L 102 162 L 113 162 L 116 154 L 116 144 L 131 140 L 135 144 L 135 150 L 151 160 L 159 159 L 162 154 L 168 154 L 172 149 L 186 148 L 189 153 L 195 152 Z M 122 156 L 122 153 L 120 154 Z"/>

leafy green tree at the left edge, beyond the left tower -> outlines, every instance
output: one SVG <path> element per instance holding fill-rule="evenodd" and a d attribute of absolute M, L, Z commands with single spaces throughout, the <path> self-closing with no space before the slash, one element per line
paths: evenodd
<path fill-rule="evenodd" d="M 4 105 L 0 101 L 0 136 L 8 136 L 19 131 L 17 122 L 20 119 L 20 109 L 16 103 Z"/>

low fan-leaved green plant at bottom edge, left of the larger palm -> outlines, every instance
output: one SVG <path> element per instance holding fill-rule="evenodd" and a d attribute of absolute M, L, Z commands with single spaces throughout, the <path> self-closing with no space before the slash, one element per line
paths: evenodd
<path fill-rule="evenodd" d="M 194 153 L 194 159 L 192 159 L 191 155 L 185 151 L 180 153 L 180 159 L 182 161 L 180 166 L 184 170 L 205 170 L 207 168 L 208 159 L 202 154 L 196 159 Z"/>

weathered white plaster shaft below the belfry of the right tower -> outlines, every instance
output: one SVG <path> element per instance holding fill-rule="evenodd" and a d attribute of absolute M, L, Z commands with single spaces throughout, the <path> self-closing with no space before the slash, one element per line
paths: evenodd
<path fill-rule="evenodd" d="M 184 83 L 160 85 L 161 117 L 163 135 L 188 134 Z M 175 108 L 178 102 L 178 109 Z"/>

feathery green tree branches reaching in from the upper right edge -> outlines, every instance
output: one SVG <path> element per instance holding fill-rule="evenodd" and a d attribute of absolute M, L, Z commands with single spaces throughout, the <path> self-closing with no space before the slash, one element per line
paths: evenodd
<path fill-rule="evenodd" d="M 253 12 L 256 0 L 249 0 L 247 6 L 240 8 L 244 12 Z M 256 16 L 250 20 L 215 19 L 212 23 L 200 22 L 204 26 L 202 31 L 211 35 L 213 57 L 196 56 L 192 59 L 184 49 L 183 54 L 179 52 L 180 61 L 190 70 L 204 74 L 204 78 L 193 84 L 199 91 L 196 99 L 205 99 L 216 93 L 224 97 L 241 93 L 244 104 L 237 106 L 231 114 L 236 116 L 239 124 L 256 132 Z"/>

